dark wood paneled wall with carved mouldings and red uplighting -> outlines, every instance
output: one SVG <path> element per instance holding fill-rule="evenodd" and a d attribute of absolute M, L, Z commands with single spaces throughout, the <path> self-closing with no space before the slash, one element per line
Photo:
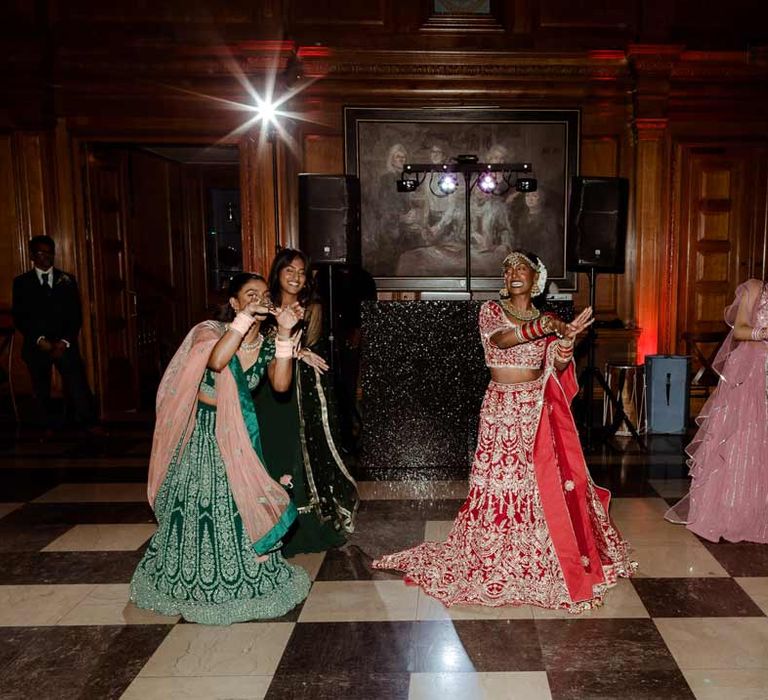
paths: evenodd
<path fill-rule="evenodd" d="M 0 304 L 33 233 L 56 237 L 91 303 L 88 142 L 237 144 L 245 261 L 267 269 L 298 241 L 296 175 L 343 171 L 344 105 L 581 108 L 581 174 L 631 181 L 627 272 L 599 278 L 597 312 L 639 327 L 641 355 L 716 326 L 741 278 L 765 274 L 768 23 L 753 2 L 492 0 L 487 17 L 427 0 L 7 5 Z M 270 89 L 300 116 L 274 152 L 243 129 Z"/>

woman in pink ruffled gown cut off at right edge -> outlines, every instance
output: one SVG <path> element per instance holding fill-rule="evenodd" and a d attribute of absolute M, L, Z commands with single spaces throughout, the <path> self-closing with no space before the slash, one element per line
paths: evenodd
<path fill-rule="evenodd" d="M 712 542 L 768 543 L 768 285 L 741 284 L 725 320 L 720 383 L 687 449 L 691 488 L 666 517 Z"/>

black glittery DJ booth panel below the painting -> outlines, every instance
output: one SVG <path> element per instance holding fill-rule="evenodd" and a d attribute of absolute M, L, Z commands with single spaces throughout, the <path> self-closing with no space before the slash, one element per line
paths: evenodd
<path fill-rule="evenodd" d="M 466 478 L 490 375 L 479 301 L 363 302 L 362 478 Z"/>

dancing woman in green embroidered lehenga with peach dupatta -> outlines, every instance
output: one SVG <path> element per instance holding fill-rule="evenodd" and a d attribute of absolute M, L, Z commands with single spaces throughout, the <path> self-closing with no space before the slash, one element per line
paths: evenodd
<path fill-rule="evenodd" d="M 141 608 L 227 625 L 284 615 L 309 592 L 279 551 L 297 513 L 290 476 L 264 468 L 250 394 L 265 375 L 289 389 L 301 310 L 277 312 L 265 339 L 266 293 L 260 275 L 237 275 L 230 322 L 195 326 L 163 375 L 148 486 L 158 529 L 131 581 Z"/>

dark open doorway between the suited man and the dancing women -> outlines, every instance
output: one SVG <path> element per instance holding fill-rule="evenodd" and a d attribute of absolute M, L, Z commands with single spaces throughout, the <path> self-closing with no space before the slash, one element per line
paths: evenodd
<path fill-rule="evenodd" d="M 239 152 L 88 143 L 83 157 L 101 417 L 150 420 L 173 353 L 242 264 Z"/>

